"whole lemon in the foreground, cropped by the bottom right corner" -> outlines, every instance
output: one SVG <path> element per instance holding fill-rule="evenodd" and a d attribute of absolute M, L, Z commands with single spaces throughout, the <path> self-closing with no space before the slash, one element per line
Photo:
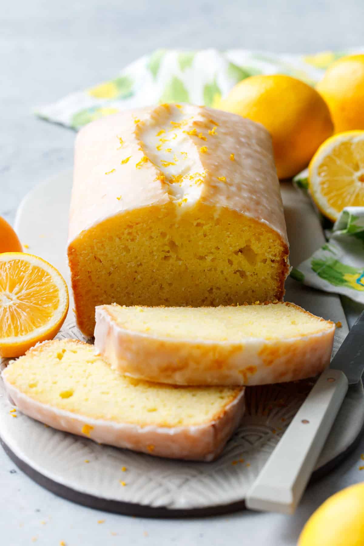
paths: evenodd
<path fill-rule="evenodd" d="M 362 546 L 364 483 L 339 491 L 307 521 L 297 546 Z"/>

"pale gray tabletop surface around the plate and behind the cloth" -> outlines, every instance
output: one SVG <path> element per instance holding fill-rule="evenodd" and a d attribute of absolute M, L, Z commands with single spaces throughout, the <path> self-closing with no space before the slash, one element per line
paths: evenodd
<path fill-rule="evenodd" d="M 34 106 L 109 79 L 160 47 L 313 53 L 361 46 L 363 15 L 362 0 L 7 2 L 0 19 L 0 215 L 13 222 L 29 189 L 72 164 L 73 131 L 38 120 Z M 364 441 L 310 486 L 294 517 L 241 513 L 158 521 L 63 501 L 15 470 L 0 449 L 0 543 L 294 546 L 327 496 L 362 479 L 362 452 Z"/>

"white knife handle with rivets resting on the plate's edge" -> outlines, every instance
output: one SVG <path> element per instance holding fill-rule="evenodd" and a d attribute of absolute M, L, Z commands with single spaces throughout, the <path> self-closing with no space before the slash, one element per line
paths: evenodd
<path fill-rule="evenodd" d="M 348 390 L 339 370 L 325 370 L 246 496 L 247 508 L 293 514 Z"/>

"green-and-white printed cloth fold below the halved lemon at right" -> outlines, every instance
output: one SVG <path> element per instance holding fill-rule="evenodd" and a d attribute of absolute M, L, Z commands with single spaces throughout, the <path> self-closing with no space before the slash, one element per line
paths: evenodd
<path fill-rule="evenodd" d="M 364 207 L 345 208 L 329 241 L 294 268 L 291 277 L 364 304 Z"/>

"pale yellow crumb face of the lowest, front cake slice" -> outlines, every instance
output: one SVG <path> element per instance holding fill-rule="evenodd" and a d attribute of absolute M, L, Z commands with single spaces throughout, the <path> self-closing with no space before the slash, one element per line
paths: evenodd
<path fill-rule="evenodd" d="M 241 392 L 229 387 L 174 387 L 127 378 L 73 340 L 47 342 L 5 370 L 23 394 L 92 419 L 140 426 L 199 425 L 218 418 Z"/>

